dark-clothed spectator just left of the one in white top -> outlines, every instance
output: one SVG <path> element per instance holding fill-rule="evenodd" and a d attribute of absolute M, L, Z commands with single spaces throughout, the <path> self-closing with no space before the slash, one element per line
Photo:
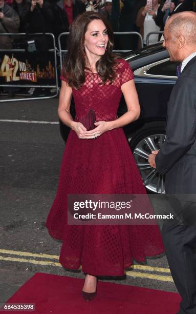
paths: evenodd
<path fill-rule="evenodd" d="M 123 7 L 119 17 L 120 32 L 139 32 L 136 18 L 139 9 L 145 6 L 146 0 L 123 0 Z M 138 47 L 137 35 L 121 35 L 119 38 L 122 50 L 135 50 Z"/>

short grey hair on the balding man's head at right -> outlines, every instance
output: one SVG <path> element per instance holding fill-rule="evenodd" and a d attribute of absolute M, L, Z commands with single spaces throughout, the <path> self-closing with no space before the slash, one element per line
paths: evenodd
<path fill-rule="evenodd" d="M 176 15 L 176 14 L 175 14 Z M 192 15 L 192 16 L 191 16 Z M 172 38 L 176 39 L 178 36 L 183 35 L 188 44 L 196 43 L 196 14 L 180 15 L 172 18 L 168 26 L 168 32 Z"/>

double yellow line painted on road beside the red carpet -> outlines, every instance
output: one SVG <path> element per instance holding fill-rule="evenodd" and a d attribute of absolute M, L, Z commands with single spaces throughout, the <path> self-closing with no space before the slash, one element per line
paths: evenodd
<path fill-rule="evenodd" d="M 2 256 L 1 254 L 4 254 Z M 5 256 L 5 255 L 8 255 Z M 17 257 L 10 257 L 17 256 Z M 39 260 L 40 259 L 40 260 Z M 44 265 L 44 266 L 55 266 L 62 267 L 62 265 L 55 260 L 58 260 L 58 255 L 42 254 L 42 253 L 31 253 L 23 251 L 13 251 L 0 249 L 0 261 L 10 261 L 18 263 L 30 263 L 35 265 Z M 53 261 L 50 261 L 53 260 Z M 145 265 L 133 265 L 133 270 L 126 271 L 126 275 L 134 278 L 147 278 L 154 279 L 158 281 L 173 282 L 169 268 L 163 267 L 152 267 Z M 81 269 L 81 266 L 80 266 Z M 155 274 L 158 272 L 159 274 Z"/>

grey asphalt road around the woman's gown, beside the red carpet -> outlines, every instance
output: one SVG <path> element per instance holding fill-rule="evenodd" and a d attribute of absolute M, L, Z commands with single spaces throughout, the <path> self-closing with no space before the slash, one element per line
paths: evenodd
<path fill-rule="evenodd" d="M 57 106 L 58 99 L 0 103 L 0 119 L 58 122 Z M 36 272 L 79 278 L 84 275 L 58 265 L 61 242 L 51 239 L 45 227 L 64 150 L 58 124 L 1 121 L 0 141 L 2 305 Z M 136 268 L 114 282 L 177 291 L 166 257 L 148 260 L 147 266 L 151 268 Z"/>

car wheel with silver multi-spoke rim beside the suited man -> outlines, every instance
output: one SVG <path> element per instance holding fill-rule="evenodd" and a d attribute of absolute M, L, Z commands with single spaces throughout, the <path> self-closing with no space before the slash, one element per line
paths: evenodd
<path fill-rule="evenodd" d="M 143 183 L 150 193 L 165 193 L 165 175 L 148 164 L 152 150 L 160 149 L 165 140 L 163 127 L 146 128 L 129 141 Z"/>

